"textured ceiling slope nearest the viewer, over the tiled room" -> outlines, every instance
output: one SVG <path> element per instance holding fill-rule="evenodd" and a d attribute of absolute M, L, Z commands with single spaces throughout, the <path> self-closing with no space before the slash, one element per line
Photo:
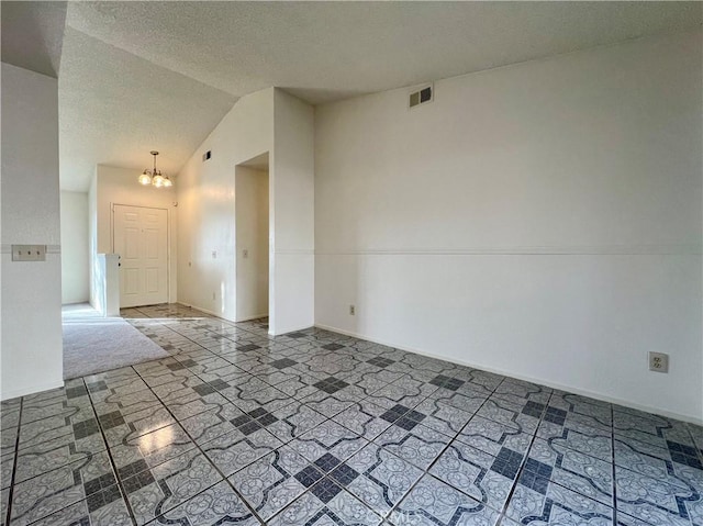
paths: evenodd
<path fill-rule="evenodd" d="M 78 2 L 67 23 L 236 97 L 313 104 L 694 27 L 701 2 Z"/>

